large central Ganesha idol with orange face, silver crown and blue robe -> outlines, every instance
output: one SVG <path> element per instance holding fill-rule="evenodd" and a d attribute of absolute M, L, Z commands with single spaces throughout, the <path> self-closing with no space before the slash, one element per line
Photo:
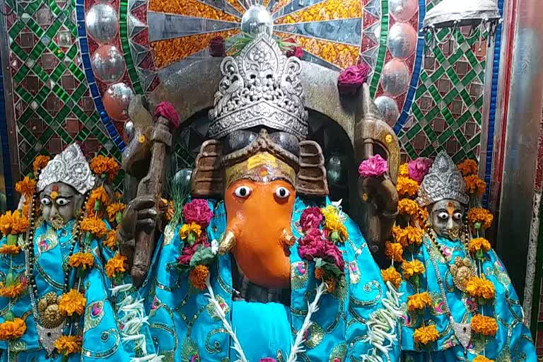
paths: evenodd
<path fill-rule="evenodd" d="M 155 222 L 156 195 L 139 194 L 119 230 L 123 243 L 136 243 L 136 256 L 139 233 L 163 230 L 141 288 L 157 350 L 163 361 L 397 361 L 398 295 L 383 282 L 357 223 L 328 198 L 322 149 L 307 139 L 304 88 L 313 110 L 334 105 L 329 114 L 351 117 L 345 124 L 359 141 L 358 157 L 378 143 L 390 160 L 385 175 L 361 181 L 368 194 L 361 191 L 359 201 L 362 194 L 375 201 L 368 220 L 378 228 L 366 233 L 377 248 L 395 218 L 397 139 L 378 120 L 367 86 L 349 101 L 353 112 L 341 110 L 334 71 L 287 58 L 262 6 L 247 11 L 242 30 L 252 40 L 221 63 L 211 139 L 199 151 L 192 192 L 172 195 L 175 212 L 163 228 Z M 209 62 L 194 66 L 211 69 Z M 327 72 L 313 73 L 315 81 L 332 81 L 303 86 L 308 71 Z M 209 86 L 194 80 L 191 89 L 203 89 L 191 101 L 204 108 Z M 337 99 L 321 107 L 317 90 Z M 176 107 L 184 119 L 187 107 Z"/>

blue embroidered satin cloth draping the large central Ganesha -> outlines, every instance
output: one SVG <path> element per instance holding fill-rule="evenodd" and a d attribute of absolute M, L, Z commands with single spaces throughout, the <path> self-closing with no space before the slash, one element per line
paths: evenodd
<path fill-rule="evenodd" d="M 214 211 L 206 230 L 208 240 L 221 240 L 226 228 L 225 206 L 223 202 L 208 202 Z M 302 211 L 325 204 L 329 204 L 329 200 L 322 199 L 317 205 L 296 199 L 291 222 L 296 239 L 300 237 Z M 313 325 L 303 344 L 305 352 L 298 354 L 297 361 L 361 361 L 363 354 L 374 349 L 373 344 L 364 341 L 368 334 L 366 321 L 373 313 L 383 310 L 387 286 L 356 223 L 346 218 L 345 225 L 349 240 L 339 246 L 346 262 L 345 284 L 320 299 L 319 310 L 311 318 Z M 141 289 L 158 354 L 165 356 L 163 361 L 235 361 L 238 357 L 231 348 L 233 341 L 216 317 L 209 299 L 190 284 L 187 274 L 176 269 L 176 258 L 182 247 L 178 235 L 180 227 L 166 228 L 156 248 L 153 269 Z M 249 362 L 267 357 L 286 361 L 296 333 L 303 325 L 308 303 L 315 297 L 314 263 L 300 259 L 297 243 L 291 247 L 290 258 L 290 307 L 279 303 L 233 301 L 230 255 L 218 257 L 210 267 L 214 294 L 226 310 L 226 318 L 235 329 Z M 397 334 L 398 328 L 395 326 L 393 333 Z M 398 342 L 390 346 L 387 356 L 380 352 L 377 355 L 383 361 L 397 361 Z"/>

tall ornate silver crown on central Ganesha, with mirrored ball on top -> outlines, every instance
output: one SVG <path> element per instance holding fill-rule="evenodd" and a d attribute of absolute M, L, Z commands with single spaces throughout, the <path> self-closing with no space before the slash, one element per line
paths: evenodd
<path fill-rule="evenodd" d="M 252 6 L 244 16 L 242 29 L 255 36 L 237 57 L 221 64 L 223 79 L 209 111 L 209 135 L 220 139 L 238 129 L 264 126 L 305 139 L 308 112 L 300 82 L 301 62 L 287 58 L 271 35 L 271 16 Z M 244 22 L 252 21 L 248 26 Z M 258 21 L 265 23 L 259 24 Z"/>

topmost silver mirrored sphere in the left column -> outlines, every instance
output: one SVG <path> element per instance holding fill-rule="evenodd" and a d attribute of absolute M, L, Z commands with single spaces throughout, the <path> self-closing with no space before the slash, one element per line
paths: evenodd
<path fill-rule="evenodd" d="M 85 16 L 87 32 L 99 43 L 111 42 L 119 31 L 117 11 L 107 4 L 96 4 Z"/>

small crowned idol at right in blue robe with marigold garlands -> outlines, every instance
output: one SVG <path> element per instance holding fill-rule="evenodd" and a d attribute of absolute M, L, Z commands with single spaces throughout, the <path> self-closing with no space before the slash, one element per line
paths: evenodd
<path fill-rule="evenodd" d="M 404 360 L 536 361 L 506 269 L 488 240 L 472 236 L 491 218 L 467 217 L 464 178 L 444 151 L 424 177 L 416 202 L 428 219 L 421 245 L 404 252 L 404 263 L 420 267 L 407 274 L 418 276 L 400 287 Z"/>

